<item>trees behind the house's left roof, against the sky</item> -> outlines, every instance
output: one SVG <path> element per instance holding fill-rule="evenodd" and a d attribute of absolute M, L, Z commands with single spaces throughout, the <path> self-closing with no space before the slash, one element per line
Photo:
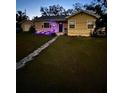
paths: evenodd
<path fill-rule="evenodd" d="M 42 16 L 58 16 L 58 15 L 71 15 L 75 12 L 81 11 L 83 9 L 83 5 L 81 3 L 73 4 L 74 9 L 65 10 L 64 7 L 57 5 L 52 5 L 49 7 L 40 8 L 40 12 Z"/>

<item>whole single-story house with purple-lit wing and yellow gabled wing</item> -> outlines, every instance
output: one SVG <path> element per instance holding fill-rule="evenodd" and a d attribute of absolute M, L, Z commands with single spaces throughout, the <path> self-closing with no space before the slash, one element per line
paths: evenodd
<path fill-rule="evenodd" d="M 32 20 L 32 23 L 36 33 L 53 32 L 66 33 L 68 36 L 90 36 L 95 29 L 97 18 L 99 16 L 93 12 L 83 10 L 70 16 L 41 16 Z"/>

